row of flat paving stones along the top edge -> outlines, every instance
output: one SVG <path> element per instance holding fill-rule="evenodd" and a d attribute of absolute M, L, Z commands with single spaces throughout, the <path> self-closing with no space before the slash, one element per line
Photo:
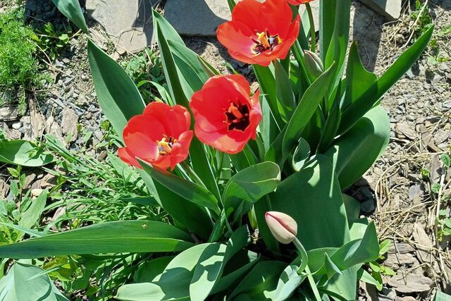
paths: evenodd
<path fill-rule="evenodd" d="M 360 0 L 386 20 L 400 17 L 402 0 Z M 316 29 L 319 28 L 319 0 L 312 1 Z M 119 54 L 137 52 L 153 42 L 152 10 L 158 0 L 86 0 L 88 16 L 99 22 L 116 44 Z M 166 0 L 166 19 L 180 35 L 215 36 L 216 28 L 230 20 L 226 0 Z M 301 6 L 301 13 L 304 6 Z"/>

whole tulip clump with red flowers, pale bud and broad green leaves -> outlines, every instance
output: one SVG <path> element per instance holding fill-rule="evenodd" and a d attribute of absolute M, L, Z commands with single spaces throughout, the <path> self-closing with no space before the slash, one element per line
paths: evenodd
<path fill-rule="evenodd" d="M 166 222 L 100 223 L 1 245 L 0 257 L 148 253 L 135 262 L 147 278 L 119 288 L 118 300 L 354 300 L 357 281 L 377 283 L 365 268 L 378 258 L 376 227 L 342 191 L 388 145 L 383 94 L 433 28 L 378 77 L 357 44 L 348 47 L 350 0 L 316 0 L 318 41 L 309 0 L 227 1 L 232 20 L 218 40 L 252 64 L 257 90 L 185 47 L 156 11 L 167 81 L 154 83 L 159 99 L 142 99 L 88 43 L 99 104 L 122 134 L 118 156 L 140 172 Z"/>

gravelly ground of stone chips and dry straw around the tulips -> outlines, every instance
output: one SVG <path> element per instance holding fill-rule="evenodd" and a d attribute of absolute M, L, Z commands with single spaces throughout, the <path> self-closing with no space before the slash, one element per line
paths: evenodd
<path fill-rule="evenodd" d="M 95 3 L 87 1 L 86 7 Z M 450 35 L 437 33 L 450 26 L 451 0 L 426 3 L 425 9 L 436 26 L 436 46 L 429 47 L 419 63 L 385 95 L 383 106 L 389 112 L 393 129 L 390 145 L 352 190 L 354 197 L 362 201 L 362 214 L 376 220 L 381 240 L 393 241 L 383 264 L 397 272 L 393 277 L 383 276 L 385 285 L 381 292 L 362 285 L 362 300 L 429 300 L 437 289 L 451 293 L 449 241 L 440 235 L 443 228 L 435 222 L 440 210 L 450 210 L 451 171 L 443 168 L 440 154 L 450 152 L 451 143 L 451 42 Z M 161 1 L 150 4 L 164 7 Z M 411 16 L 413 4 L 405 2 L 403 8 L 400 20 L 387 22 L 370 8 L 354 2 L 352 38 L 359 42 L 362 61 L 369 70 L 381 74 L 416 37 L 412 32 L 419 21 Z M 123 61 L 135 56 L 126 49 L 135 34 L 122 40 L 111 38 L 94 20 L 102 23 L 105 16 L 96 16 L 89 9 L 87 14 L 92 16 L 92 37 L 114 59 Z M 50 0 L 27 1 L 27 18 L 31 23 L 66 22 Z M 140 22 L 140 26 L 149 27 L 147 16 Z M 127 26 L 135 28 L 134 24 Z M 126 28 L 123 31 L 129 32 Z M 143 31 L 138 31 L 136 37 L 143 43 L 140 32 Z M 221 72 L 228 71 L 228 61 L 240 73 L 249 75 L 249 66 L 230 59 L 210 34 L 197 32 L 184 39 Z M 144 43 L 151 44 L 152 37 L 145 35 Z M 107 128 L 102 125 L 105 118 L 95 99 L 86 44 L 85 36 L 74 37 L 58 59 L 47 62 L 51 81 L 30 93 L 25 116 L 20 116 L 14 107 L 0 108 L 0 125 L 7 137 L 35 140 L 51 133 L 68 149 L 82 150 L 100 159 L 104 156 Z M 28 188 L 53 185 L 51 176 L 42 171 L 27 176 Z M 5 177 L 0 180 L 0 197 L 8 195 L 7 182 Z M 435 189 L 437 183 L 442 183 L 441 190 Z"/>

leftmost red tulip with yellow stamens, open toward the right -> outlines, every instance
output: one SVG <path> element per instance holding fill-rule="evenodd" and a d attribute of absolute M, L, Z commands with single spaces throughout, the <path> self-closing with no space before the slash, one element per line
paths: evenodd
<path fill-rule="evenodd" d="M 118 149 L 118 156 L 138 168 L 141 166 L 136 158 L 173 170 L 189 154 L 193 136 L 190 123 L 190 112 L 183 106 L 152 102 L 142 115 L 132 117 L 125 125 L 125 147 Z"/>

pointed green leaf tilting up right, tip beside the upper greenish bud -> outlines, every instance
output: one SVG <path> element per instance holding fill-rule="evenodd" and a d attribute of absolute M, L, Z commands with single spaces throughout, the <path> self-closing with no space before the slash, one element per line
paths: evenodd
<path fill-rule="evenodd" d="M 323 74 L 319 76 L 307 89 L 302 96 L 295 113 L 293 113 L 290 122 L 287 125 L 287 130 L 283 136 L 282 142 L 282 163 L 287 158 L 288 154 L 294 149 L 296 142 L 301 137 L 302 130 L 309 123 L 311 116 L 314 115 L 321 100 L 326 95 L 330 85 L 333 82 L 333 73 L 335 65 L 330 66 Z"/>

